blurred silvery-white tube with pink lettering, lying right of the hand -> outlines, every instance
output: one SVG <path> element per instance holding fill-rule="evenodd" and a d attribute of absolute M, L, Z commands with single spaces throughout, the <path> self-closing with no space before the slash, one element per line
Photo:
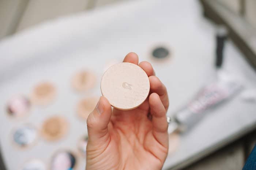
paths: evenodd
<path fill-rule="evenodd" d="M 192 128 L 206 113 L 224 103 L 242 89 L 236 80 L 219 79 L 202 88 L 184 108 L 180 109 L 171 119 L 170 132 L 187 131 Z"/>

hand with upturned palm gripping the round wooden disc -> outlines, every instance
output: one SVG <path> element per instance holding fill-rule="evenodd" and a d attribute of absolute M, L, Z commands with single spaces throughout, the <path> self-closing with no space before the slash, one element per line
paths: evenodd
<path fill-rule="evenodd" d="M 138 55 L 129 53 L 123 62 L 138 65 Z M 139 66 L 150 80 L 150 95 L 138 108 L 111 109 L 101 97 L 87 118 L 87 170 L 161 170 L 168 153 L 166 87 L 148 62 Z"/>

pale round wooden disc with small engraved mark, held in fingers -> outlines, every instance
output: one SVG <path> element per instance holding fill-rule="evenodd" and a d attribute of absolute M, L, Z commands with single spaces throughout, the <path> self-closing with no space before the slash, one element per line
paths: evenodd
<path fill-rule="evenodd" d="M 101 80 L 101 93 L 120 110 L 131 110 L 142 104 L 149 93 L 150 83 L 144 70 L 133 63 L 123 62 L 109 67 Z"/>

